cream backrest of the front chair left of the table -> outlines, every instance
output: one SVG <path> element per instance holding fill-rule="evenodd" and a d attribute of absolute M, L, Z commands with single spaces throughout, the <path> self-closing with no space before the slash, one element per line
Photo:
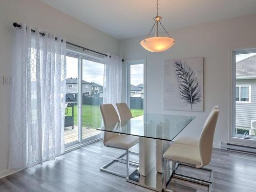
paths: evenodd
<path fill-rule="evenodd" d="M 117 115 L 117 112 L 113 106 L 113 104 L 101 104 L 100 105 L 100 112 L 103 118 L 104 126 L 113 125 L 117 122 L 119 122 L 119 117 Z M 103 143 L 107 140 L 109 140 L 112 137 L 115 137 L 119 134 L 117 133 L 110 133 L 103 131 Z"/>

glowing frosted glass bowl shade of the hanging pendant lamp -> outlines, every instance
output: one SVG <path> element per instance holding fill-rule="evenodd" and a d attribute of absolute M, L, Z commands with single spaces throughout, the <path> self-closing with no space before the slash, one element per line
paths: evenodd
<path fill-rule="evenodd" d="M 143 39 L 140 45 L 151 52 L 162 52 L 171 48 L 175 40 L 170 37 L 150 37 Z"/>

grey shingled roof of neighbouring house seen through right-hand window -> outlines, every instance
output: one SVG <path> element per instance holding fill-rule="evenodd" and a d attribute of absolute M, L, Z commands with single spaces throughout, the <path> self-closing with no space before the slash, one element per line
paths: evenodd
<path fill-rule="evenodd" d="M 236 76 L 237 79 L 256 78 L 256 54 L 236 63 Z"/>

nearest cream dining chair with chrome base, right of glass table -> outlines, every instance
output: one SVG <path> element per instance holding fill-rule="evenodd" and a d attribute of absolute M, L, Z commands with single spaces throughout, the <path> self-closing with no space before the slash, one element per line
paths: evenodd
<path fill-rule="evenodd" d="M 213 170 L 205 168 L 204 166 L 208 165 L 211 160 L 212 143 L 214 140 L 214 132 L 218 116 L 219 108 L 218 106 L 215 106 L 204 123 L 203 130 L 199 139 L 181 137 L 177 139 L 172 145 L 170 145 L 168 150 L 163 154 L 164 191 L 169 191 L 166 189 L 167 161 L 172 162 L 173 177 L 206 185 L 208 186 L 208 191 L 211 191 L 214 172 Z M 177 166 L 176 163 L 178 163 Z M 210 179 L 203 180 L 183 174 L 178 174 L 176 173 L 176 170 L 180 164 L 208 170 L 210 172 Z"/>

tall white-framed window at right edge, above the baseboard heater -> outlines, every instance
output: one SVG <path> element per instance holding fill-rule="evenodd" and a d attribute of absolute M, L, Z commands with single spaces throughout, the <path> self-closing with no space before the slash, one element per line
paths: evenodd
<path fill-rule="evenodd" d="M 256 49 L 232 52 L 231 137 L 256 139 Z"/>

